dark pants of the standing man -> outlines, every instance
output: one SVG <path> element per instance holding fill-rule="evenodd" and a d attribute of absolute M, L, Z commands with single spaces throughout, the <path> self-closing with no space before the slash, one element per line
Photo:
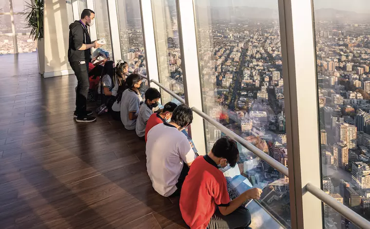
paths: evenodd
<path fill-rule="evenodd" d="M 86 64 L 80 64 L 80 61 L 70 62 L 71 67 L 74 71 L 74 75 L 77 77 L 77 88 L 76 88 L 76 113 L 78 117 L 84 117 L 86 115 L 86 102 L 87 94 L 89 93 L 89 75 L 88 66 L 89 62 L 85 61 Z"/>

